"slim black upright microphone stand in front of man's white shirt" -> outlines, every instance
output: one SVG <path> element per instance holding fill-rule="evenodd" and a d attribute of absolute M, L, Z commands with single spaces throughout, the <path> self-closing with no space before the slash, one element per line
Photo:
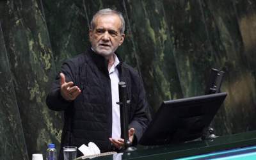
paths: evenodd
<path fill-rule="evenodd" d="M 125 82 L 118 83 L 118 92 L 119 92 L 119 104 L 120 106 L 120 124 L 121 124 L 121 138 L 124 139 L 124 152 L 131 152 L 136 150 L 135 147 L 131 147 L 131 141 L 129 141 L 129 129 L 128 129 L 128 111 L 127 104 L 129 104 L 129 100 L 127 100 L 127 88 Z"/>

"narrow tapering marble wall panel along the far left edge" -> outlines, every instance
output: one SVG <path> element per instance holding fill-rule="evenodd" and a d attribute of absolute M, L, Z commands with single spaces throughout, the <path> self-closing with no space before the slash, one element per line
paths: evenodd
<path fill-rule="evenodd" d="M 1 6 L 0 2 L 0 6 Z M 28 159 L 0 21 L 0 159 Z"/>

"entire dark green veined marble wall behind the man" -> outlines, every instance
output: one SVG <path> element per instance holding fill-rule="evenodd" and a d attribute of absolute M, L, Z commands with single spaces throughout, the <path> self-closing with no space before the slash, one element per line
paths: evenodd
<path fill-rule="evenodd" d="M 218 135 L 256 129 L 256 2 L 250 0 L 0 1 L 0 159 L 28 159 L 60 145 L 62 113 L 45 96 L 63 60 L 88 47 L 92 15 L 124 13 L 122 58 L 143 78 L 152 113 L 163 100 L 204 94 L 224 70 Z"/>

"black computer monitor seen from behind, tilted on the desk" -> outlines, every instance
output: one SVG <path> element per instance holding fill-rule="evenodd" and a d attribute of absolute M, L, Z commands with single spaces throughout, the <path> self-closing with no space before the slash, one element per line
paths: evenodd
<path fill-rule="evenodd" d="M 214 93 L 164 101 L 139 143 L 164 145 L 200 138 L 226 96 L 227 93 Z"/>

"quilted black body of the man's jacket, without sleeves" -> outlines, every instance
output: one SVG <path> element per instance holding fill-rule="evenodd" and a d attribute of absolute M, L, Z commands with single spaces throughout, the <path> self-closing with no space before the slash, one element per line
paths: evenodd
<path fill-rule="evenodd" d="M 72 108 L 65 111 L 61 148 L 68 145 L 80 147 L 93 141 L 99 146 L 100 152 L 108 152 L 112 150 L 109 142 L 112 129 L 112 99 L 108 63 L 92 50 L 86 54 L 80 54 L 66 63 L 70 63 L 72 68 L 73 79 L 70 80 L 79 86 L 82 93 L 72 102 Z M 136 81 L 139 77 L 132 75 L 138 74 L 132 73 L 134 70 L 122 61 L 117 68 L 120 81 L 127 83 L 128 99 L 136 102 L 136 97 L 138 97 Z M 133 91 L 131 91 L 131 83 L 134 83 L 132 84 Z M 132 95 L 131 92 L 135 95 Z M 129 108 L 130 121 L 135 106 L 136 104 L 131 104 L 131 108 Z M 78 150 L 77 156 L 82 156 Z M 62 158 L 61 151 L 59 159 Z"/>

